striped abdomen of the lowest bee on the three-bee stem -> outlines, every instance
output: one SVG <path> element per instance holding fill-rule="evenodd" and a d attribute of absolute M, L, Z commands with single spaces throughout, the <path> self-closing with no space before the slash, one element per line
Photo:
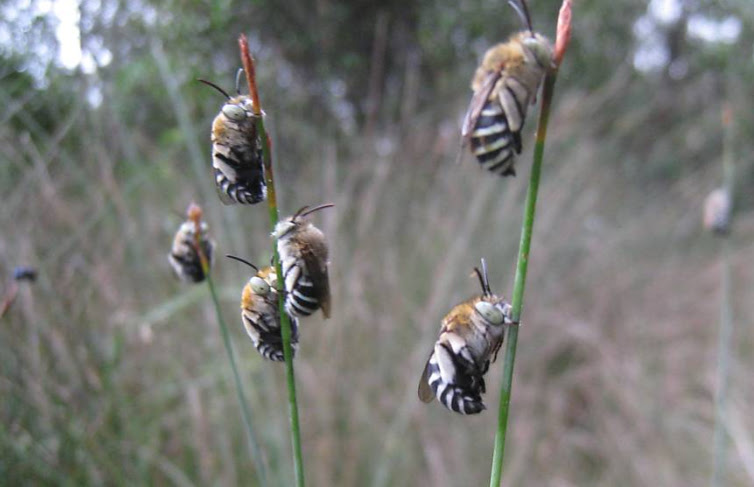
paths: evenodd
<path fill-rule="evenodd" d="M 267 313 L 245 308 L 241 310 L 241 319 L 257 351 L 268 360 L 282 362 L 284 360 L 283 337 L 280 333 L 280 319 L 276 306 L 276 304 L 271 306 Z M 290 323 L 291 351 L 295 357 L 298 349 L 298 320 L 291 317 Z"/>

